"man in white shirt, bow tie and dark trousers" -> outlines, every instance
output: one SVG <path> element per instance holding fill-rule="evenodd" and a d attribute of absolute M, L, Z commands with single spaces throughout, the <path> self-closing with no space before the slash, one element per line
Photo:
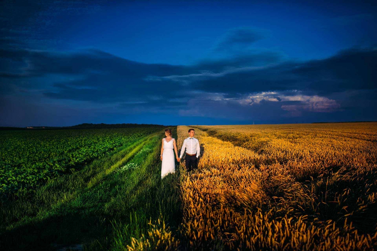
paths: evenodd
<path fill-rule="evenodd" d="M 183 153 L 186 149 L 186 170 L 187 172 L 196 169 L 198 166 L 198 157 L 200 153 L 199 140 L 194 138 L 195 130 L 189 129 L 189 137 L 183 141 L 181 156 L 179 156 L 178 161 L 181 161 Z"/>

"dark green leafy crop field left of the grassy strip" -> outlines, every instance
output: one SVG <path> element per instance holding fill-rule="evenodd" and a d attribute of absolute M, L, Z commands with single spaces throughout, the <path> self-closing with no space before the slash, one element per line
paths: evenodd
<path fill-rule="evenodd" d="M 158 127 L 0 131 L 0 195 L 19 195 Z"/>

